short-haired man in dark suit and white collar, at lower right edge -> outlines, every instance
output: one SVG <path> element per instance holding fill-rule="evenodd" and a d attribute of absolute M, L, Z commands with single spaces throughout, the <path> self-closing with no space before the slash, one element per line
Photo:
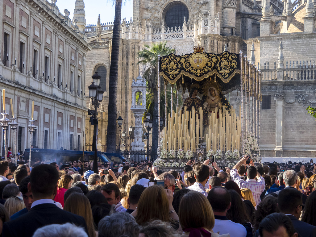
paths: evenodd
<path fill-rule="evenodd" d="M 315 237 L 316 227 L 299 221 L 303 203 L 302 194 L 294 188 L 284 188 L 279 192 L 277 206 L 280 212 L 289 216 L 296 232 L 302 237 Z"/>

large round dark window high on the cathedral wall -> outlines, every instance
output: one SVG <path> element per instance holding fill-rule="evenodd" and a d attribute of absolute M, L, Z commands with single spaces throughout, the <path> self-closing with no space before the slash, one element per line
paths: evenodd
<path fill-rule="evenodd" d="M 167 5 L 164 10 L 165 22 L 167 27 L 182 27 L 183 20 L 188 21 L 189 19 L 189 10 L 187 7 L 181 2 L 173 2 Z"/>

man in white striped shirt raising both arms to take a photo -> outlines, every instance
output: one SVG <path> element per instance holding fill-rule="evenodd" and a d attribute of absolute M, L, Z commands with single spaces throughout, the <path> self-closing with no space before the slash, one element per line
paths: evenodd
<path fill-rule="evenodd" d="M 237 173 L 237 169 L 241 165 L 246 165 L 246 160 L 248 159 L 248 155 L 245 155 L 240 161 L 234 166 L 234 168 L 230 171 L 230 176 L 234 180 L 236 184 L 238 184 L 239 188 L 248 188 L 251 190 L 253 199 L 255 200 L 257 206 L 261 202 L 260 195 L 264 191 L 265 181 L 264 178 L 257 172 L 253 161 L 250 159 L 250 164 L 248 165 L 246 175 L 247 180 L 241 179 L 239 174 Z M 256 176 L 258 181 L 256 181 Z"/>

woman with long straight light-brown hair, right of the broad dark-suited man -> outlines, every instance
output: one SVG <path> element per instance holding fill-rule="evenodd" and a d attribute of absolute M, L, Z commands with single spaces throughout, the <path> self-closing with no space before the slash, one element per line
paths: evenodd
<path fill-rule="evenodd" d="M 70 196 L 67 198 L 65 202 L 64 210 L 69 211 L 78 216 L 82 216 L 84 218 L 87 224 L 87 231 L 89 237 L 96 237 L 98 235 L 95 231 L 89 199 L 84 194 L 70 194 Z"/>

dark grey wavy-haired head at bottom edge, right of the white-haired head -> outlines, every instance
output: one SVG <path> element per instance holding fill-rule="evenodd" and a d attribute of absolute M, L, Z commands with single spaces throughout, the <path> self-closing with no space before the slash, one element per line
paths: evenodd
<path fill-rule="evenodd" d="M 98 237 L 130 236 L 138 237 L 140 226 L 135 218 L 126 212 L 116 212 L 100 220 Z"/>

